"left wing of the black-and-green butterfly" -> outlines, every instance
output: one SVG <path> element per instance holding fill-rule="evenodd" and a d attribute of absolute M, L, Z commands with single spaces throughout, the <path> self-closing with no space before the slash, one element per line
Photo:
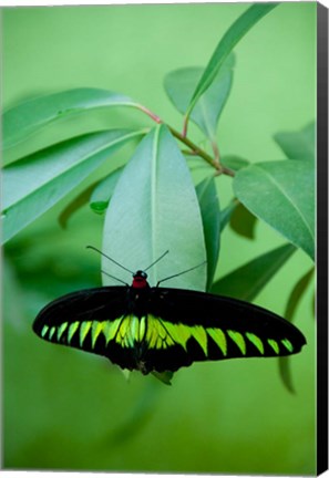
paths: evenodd
<path fill-rule="evenodd" d="M 33 331 L 45 341 L 104 355 L 123 368 L 134 368 L 131 346 L 116 339 L 128 314 L 126 287 L 103 287 L 73 292 L 48 304 Z"/>

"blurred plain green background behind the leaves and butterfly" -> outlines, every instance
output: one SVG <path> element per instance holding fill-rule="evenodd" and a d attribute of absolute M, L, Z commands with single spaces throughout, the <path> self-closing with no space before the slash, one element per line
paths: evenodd
<path fill-rule="evenodd" d="M 174 69 L 205 65 L 246 3 L 8 8 L 3 19 L 3 103 L 80 86 L 117 91 L 173 126 L 181 116 L 162 82 Z M 222 154 L 251 162 L 284 154 L 273 139 L 316 115 L 316 2 L 282 3 L 237 45 L 234 86 L 218 129 Z M 70 118 L 10 150 L 18 158 L 84 131 L 137 127 L 137 112 L 94 112 Z M 202 141 L 191 127 L 192 137 Z M 130 145 L 111 160 L 122 164 Z M 202 174 L 202 173 L 199 173 Z M 102 170 L 84 181 L 82 190 Z M 230 179 L 217 181 L 220 202 Z M 74 194 L 71 197 L 74 197 Z M 31 322 L 60 294 L 99 285 L 103 218 L 80 210 L 66 230 L 63 199 L 10 241 L 3 261 L 3 465 L 7 468 L 225 474 L 315 474 L 313 291 L 297 311 L 307 336 L 291 357 L 296 395 L 276 360 L 195 364 L 167 387 L 132 374 L 127 383 L 106 360 L 40 341 Z M 284 239 L 257 222 L 256 240 L 227 228 L 217 277 Z M 256 302 L 279 314 L 311 267 L 298 251 Z"/>

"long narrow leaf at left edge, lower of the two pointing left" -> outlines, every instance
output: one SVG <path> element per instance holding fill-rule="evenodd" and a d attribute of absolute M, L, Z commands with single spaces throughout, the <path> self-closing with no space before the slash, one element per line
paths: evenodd
<path fill-rule="evenodd" d="M 114 129 L 74 137 L 3 168 L 3 242 L 45 212 L 128 141 Z"/>

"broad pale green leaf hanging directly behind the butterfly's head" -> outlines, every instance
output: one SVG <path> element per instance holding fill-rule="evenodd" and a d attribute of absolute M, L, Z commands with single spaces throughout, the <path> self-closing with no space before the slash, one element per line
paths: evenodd
<path fill-rule="evenodd" d="M 199 206 L 189 170 L 164 125 L 145 136 L 124 168 L 106 210 L 103 251 L 132 271 L 147 268 L 151 285 L 206 260 Z M 102 258 L 102 269 L 130 281 Z M 104 283 L 115 283 L 104 278 Z M 205 290 L 206 268 L 174 278 L 168 287 Z"/>

